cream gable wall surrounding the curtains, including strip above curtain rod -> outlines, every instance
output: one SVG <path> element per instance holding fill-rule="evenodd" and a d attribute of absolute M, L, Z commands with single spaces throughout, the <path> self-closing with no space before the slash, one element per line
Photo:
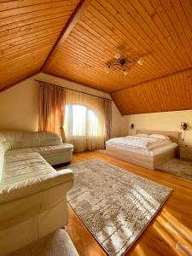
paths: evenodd
<path fill-rule="evenodd" d="M 34 79 L 110 99 L 110 96 L 102 91 L 65 79 L 58 79 L 45 73 L 38 73 L 32 78 L 26 79 L 0 93 L 0 129 L 38 131 L 38 82 L 35 82 Z M 124 121 L 126 121 L 126 118 L 120 115 L 119 110 L 113 103 L 112 137 L 124 135 L 125 126 L 122 125 Z"/>

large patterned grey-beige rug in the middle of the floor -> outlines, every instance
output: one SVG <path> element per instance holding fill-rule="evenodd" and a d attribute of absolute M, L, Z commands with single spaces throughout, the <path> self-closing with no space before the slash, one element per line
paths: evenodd
<path fill-rule="evenodd" d="M 123 255 L 172 189 L 102 160 L 68 166 L 74 186 L 67 201 L 108 255 Z"/>

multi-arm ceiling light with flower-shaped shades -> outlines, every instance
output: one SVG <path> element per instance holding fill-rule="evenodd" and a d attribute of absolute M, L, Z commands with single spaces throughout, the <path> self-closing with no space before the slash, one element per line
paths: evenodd
<path fill-rule="evenodd" d="M 131 65 L 138 64 L 143 66 L 143 57 L 140 57 L 137 61 L 131 61 L 127 57 L 121 55 L 120 53 L 116 53 L 114 55 L 114 60 L 108 62 L 108 66 L 105 67 L 105 73 L 109 73 L 112 70 L 120 70 L 124 73 L 125 76 L 129 74 Z"/>

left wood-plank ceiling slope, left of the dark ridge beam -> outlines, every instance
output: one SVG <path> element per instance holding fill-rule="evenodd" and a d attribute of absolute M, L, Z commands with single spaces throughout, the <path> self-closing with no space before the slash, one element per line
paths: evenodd
<path fill-rule="evenodd" d="M 0 1 L 0 90 L 40 71 L 78 3 Z"/>

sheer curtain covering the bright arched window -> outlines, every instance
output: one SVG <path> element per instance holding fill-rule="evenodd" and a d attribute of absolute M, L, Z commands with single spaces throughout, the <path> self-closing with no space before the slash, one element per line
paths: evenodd
<path fill-rule="evenodd" d="M 64 130 L 74 151 L 105 147 L 105 104 L 102 98 L 67 90 Z"/>

